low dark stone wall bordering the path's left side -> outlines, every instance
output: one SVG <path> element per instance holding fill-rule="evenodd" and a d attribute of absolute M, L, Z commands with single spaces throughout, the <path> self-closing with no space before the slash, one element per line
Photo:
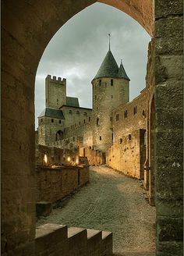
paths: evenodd
<path fill-rule="evenodd" d="M 89 166 L 37 166 L 36 201 L 55 202 L 89 182 Z"/>

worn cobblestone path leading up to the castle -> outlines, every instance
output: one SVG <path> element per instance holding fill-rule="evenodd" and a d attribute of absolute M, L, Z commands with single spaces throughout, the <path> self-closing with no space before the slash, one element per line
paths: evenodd
<path fill-rule="evenodd" d="M 115 255 L 154 255 L 155 208 L 145 201 L 138 180 L 104 165 L 90 167 L 90 183 L 37 225 L 46 222 L 109 230 Z"/>

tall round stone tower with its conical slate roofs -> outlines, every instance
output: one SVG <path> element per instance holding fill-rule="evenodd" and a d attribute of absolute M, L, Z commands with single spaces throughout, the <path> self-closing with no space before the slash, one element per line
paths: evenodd
<path fill-rule="evenodd" d="M 106 152 L 113 141 L 112 109 L 129 102 L 129 77 L 109 51 L 91 81 L 93 86 L 93 145 Z"/>

